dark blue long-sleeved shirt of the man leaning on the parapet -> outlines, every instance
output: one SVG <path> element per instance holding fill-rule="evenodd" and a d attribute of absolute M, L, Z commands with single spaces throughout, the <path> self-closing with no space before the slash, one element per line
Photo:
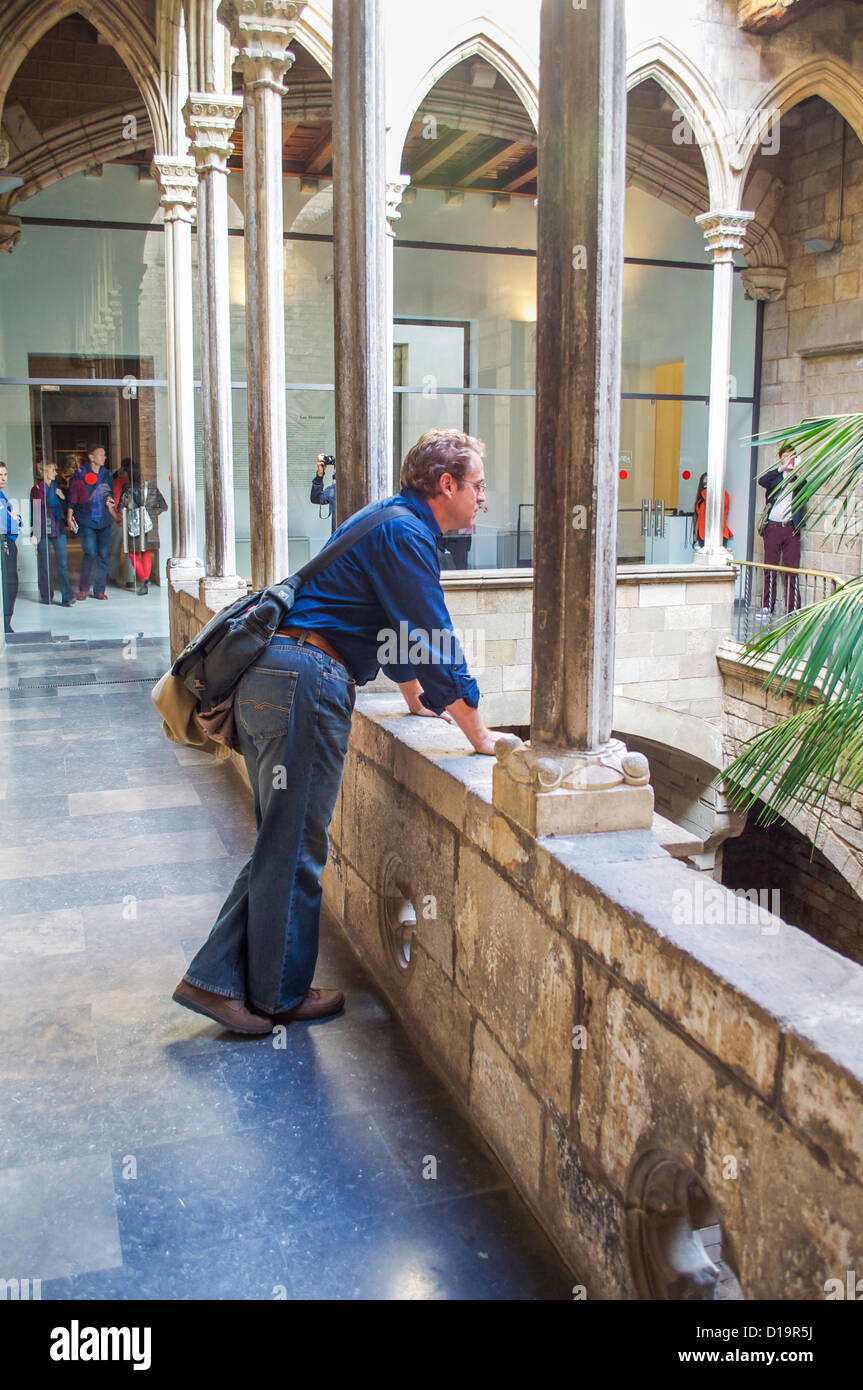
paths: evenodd
<path fill-rule="evenodd" d="M 382 670 L 393 681 L 418 680 L 422 705 L 438 714 L 457 699 L 477 709 L 479 688 L 453 637 L 435 543 L 441 527 L 427 499 L 404 488 L 397 498 L 371 502 L 354 513 L 335 537 L 393 502 L 413 516 L 382 521 L 309 580 L 288 626 L 322 632 L 359 685 Z"/>

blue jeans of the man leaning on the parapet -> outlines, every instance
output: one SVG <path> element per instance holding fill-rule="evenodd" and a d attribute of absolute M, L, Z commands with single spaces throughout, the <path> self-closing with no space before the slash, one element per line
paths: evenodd
<path fill-rule="evenodd" d="M 292 1009 L 318 958 L 320 877 L 356 685 L 340 662 L 275 637 L 236 689 L 257 842 L 185 979 L 261 1013 Z"/>

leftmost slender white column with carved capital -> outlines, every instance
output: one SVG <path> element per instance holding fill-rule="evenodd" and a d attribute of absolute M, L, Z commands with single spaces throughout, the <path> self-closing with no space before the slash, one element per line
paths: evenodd
<path fill-rule="evenodd" d="M 165 220 L 168 424 L 171 441 L 171 559 L 168 580 L 197 594 L 204 573 L 197 559 L 195 503 L 195 377 L 192 361 L 192 218 L 197 192 L 195 160 L 156 154 L 156 178 Z"/>

